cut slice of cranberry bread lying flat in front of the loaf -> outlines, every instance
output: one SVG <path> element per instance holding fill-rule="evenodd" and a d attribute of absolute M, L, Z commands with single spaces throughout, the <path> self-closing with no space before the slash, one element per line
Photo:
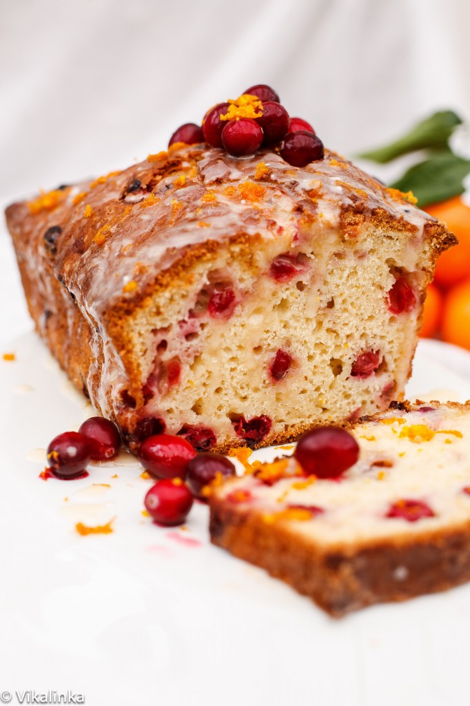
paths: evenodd
<path fill-rule="evenodd" d="M 215 489 L 212 542 L 335 617 L 470 580 L 470 402 L 395 403 L 350 431 L 337 479 L 289 457 Z"/>

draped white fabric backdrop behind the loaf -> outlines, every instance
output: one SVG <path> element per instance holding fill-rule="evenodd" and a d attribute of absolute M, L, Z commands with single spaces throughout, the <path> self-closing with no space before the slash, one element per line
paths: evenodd
<path fill-rule="evenodd" d="M 467 0 L 0 0 L 0 205 L 157 152 L 253 83 L 349 156 L 470 114 Z M 28 327 L 0 228 L 0 345 Z"/>

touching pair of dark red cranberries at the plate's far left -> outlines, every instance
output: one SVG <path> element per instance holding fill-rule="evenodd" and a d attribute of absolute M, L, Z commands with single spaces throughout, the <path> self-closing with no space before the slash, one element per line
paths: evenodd
<path fill-rule="evenodd" d="M 90 417 L 78 431 L 65 431 L 52 439 L 47 447 L 47 462 L 57 478 L 79 478 L 90 460 L 109 461 L 120 448 L 116 424 L 103 417 Z"/>

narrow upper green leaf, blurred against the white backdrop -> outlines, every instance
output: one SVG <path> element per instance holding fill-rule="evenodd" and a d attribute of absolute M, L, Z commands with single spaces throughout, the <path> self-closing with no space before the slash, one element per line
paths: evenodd
<path fill-rule="evenodd" d="M 385 164 L 385 162 L 390 162 L 396 157 L 408 154 L 408 152 L 442 148 L 447 146 L 447 140 L 452 135 L 454 128 L 460 123 L 462 120 L 452 110 L 441 110 L 418 123 L 411 132 L 391 145 L 364 152 L 359 156 L 365 160 Z"/>

